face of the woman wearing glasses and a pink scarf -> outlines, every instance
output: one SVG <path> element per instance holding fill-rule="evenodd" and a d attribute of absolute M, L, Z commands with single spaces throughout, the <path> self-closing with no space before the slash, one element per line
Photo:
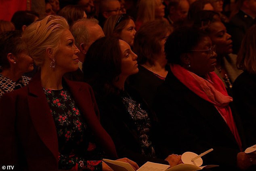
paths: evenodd
<path fill-rule="evenodd" d="M 189 70 L 199 76 L 214 71 L 216 65 L 216 53 L 210 53 L 212 41 L 210 37 L 204 37 L 197 46 L 188 54 L 190 60 Z"/>

